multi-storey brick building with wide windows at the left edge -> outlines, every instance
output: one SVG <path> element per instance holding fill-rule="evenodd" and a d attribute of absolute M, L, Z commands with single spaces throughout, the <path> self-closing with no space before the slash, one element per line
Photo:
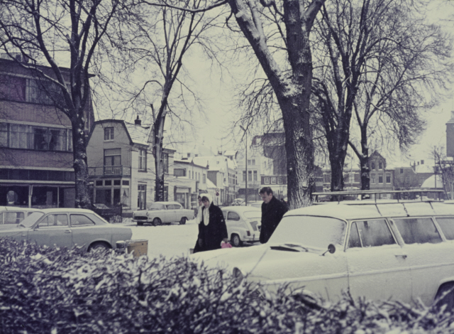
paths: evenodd
<path fill-rule="evenodd" d="M 40 70 L 52 76 L 50 68 Z M 52 87 L 0 55 L 0 205 L 74 207 L 72 126 L 55 107 L 60 91 Z M 91 103 L 84 119 L 88 134 Z"/>

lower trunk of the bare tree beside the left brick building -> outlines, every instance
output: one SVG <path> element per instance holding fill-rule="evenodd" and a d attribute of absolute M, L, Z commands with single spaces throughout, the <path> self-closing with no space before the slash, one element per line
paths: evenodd
<path fill-rule="evenodd" d="M 74 112 L 74 114 L 77 114 Z M 89 191 L 89 173 L 87 163 L 87 143 L 84 132 L 84 112 L 72 122 L 72 150 L 74 156 L 74 175 L 76 186 L 75 208 L 91 209 L 92 200 Z"/>

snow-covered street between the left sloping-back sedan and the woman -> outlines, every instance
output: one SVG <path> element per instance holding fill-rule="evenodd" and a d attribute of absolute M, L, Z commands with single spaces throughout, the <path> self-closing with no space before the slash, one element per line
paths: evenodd
<path fill-rule="evenodd" d="M 189 249 L 196 244 L 199 228 L 195 220 L 188 220 L 185 225 L 174 222 L 172 225 L 137 226 L 133 222 L 123 222 L 133 230 L 132 239 L 148 240 L 148 256 L 165 257 L 188 255 Z"/>

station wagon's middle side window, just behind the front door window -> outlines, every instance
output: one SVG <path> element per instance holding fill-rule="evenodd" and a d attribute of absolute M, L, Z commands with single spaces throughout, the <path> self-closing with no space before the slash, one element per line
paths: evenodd
<path fill-rule="evenodd" d="M 436 244 L 442 241 L 431 218 L 399 218 L 393 221 L 406 244 Z"/>

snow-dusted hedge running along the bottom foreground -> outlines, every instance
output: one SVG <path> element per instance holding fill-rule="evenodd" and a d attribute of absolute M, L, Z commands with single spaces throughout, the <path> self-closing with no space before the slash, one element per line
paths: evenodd
<path fill-rule="evenodd" d="M 309 307 L 185 257 L 37 247 L 0 239 L 0 333 L 454 333 L 423 306 L 353 301 Z"/>

